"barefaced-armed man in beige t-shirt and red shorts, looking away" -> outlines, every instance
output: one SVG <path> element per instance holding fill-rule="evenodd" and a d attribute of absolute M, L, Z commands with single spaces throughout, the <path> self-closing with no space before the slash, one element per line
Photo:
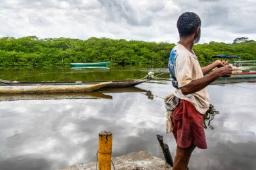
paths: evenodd
<path fill-rule="evenodd" d="M 180 41 L 169 58 L 172 85 L 177 88 L 174 95 L 179 98 L 179 104 L 172 112 L 172 133 L 177 141 L 173 170 L 185 170 L 193 149 L 196 146 L 207 148 L 203 114 L 208 110 L 210 101 L 205 87 L 219 77 L 230 77 L 232 67 L 220 60 L 200 67 L 192 50 L 193 44 L 199 42 L 201 33 L 201 20 L 197 14 L 183 13 L 177 28 Z M 210 73 L 215 67 L 220 68 Z"/>

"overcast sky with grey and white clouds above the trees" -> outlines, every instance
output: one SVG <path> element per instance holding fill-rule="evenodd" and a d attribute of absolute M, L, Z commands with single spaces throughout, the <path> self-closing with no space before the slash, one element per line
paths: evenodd
<path fill-rule="evenodd" d="M 0 36 L 92 36 L 177 42 L 185 11 L 201 17 L 201 43 L 256 40 L 255 0 L 1 0 Z"/>

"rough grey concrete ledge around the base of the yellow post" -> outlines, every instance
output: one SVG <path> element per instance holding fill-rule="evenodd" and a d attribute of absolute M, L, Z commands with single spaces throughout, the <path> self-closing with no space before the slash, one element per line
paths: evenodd
<path fill-rule="evenodd" d="M 163 159 L 150 155 L 147 151 L 130 153 L 113 158 L 117 170 L 170 170 L 172 167 Z M 113 167 L 112 167 L 113 169 Z M 61 170 L 96 170 L 96 162 L 77 164 Z"/>

